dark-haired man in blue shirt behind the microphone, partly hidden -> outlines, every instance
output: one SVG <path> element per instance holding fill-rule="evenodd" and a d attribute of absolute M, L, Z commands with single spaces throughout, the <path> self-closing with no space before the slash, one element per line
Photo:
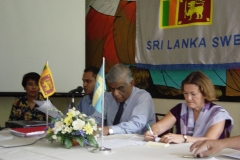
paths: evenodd
<path fill-rule="evenodd" d="M 83 89 L 85 92 L 85 96 L 81 98 L 77 105 L 77 109 L 86 114 L 87 116 L 93 117 L 97 122 L 101 121 L 101 114 L 95 110 L 92 106 L 92 98 L 94 87 L 96 83 L 96 76 L 99 72 L 99 68 L 97 67 L 88 67 L 84 70 L 82 81 L 83 81 Z M 100 120 L 99 120 L 100 118 Z"/>

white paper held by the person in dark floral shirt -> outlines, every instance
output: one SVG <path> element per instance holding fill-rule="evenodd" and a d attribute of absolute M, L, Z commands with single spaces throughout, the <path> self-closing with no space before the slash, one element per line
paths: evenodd
<path fill-rule="evenodd" d="M 63 113 L 59 111 L 52 103 L 51 101 L 38 101 L 38 100 L 33 100 L 39 107 L 36 109 L 43 112 L 47 113 L 48 109 L 48 115 L 53 117 L 53 118 L 61 118 L 63 117 Z"/>

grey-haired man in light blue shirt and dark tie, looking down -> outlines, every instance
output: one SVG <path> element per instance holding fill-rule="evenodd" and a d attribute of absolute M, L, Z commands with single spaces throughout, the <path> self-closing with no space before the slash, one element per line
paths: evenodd
<path fill-rule="evenodd" d="M 103 128 L 103 134 L 144 134 L 146 124 L 155 123 L 151 95 L 134 87 L 131 70 L 123 64 L 113 66 L 106 79 L 111 92 L 104 95 L 107 126 Z M 123 104 L 122 109 L 120 104 Z"/>

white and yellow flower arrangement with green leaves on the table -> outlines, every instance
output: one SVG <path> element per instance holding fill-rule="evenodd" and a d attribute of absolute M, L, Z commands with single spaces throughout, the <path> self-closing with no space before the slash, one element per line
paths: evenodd
<path fill-rule="evenodd" d="M 52 125 L 46 131 L 46 139 L 51 142 L 60 141 L 68 149 L 73 146 L 73 141 L 80 146 L 91 145 L 97 148 L 98 143 L 94 136 L 96 131 L 96 121 L 73 107 L 64 118 L 52 120 Z"/>

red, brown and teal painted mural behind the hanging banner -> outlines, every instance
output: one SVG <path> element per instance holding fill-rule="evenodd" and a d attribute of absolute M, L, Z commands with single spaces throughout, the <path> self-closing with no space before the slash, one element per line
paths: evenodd
<path fill-rule="evenodd" d="M 157 4 L 159 5 L 161 0 L 152 1 L 158 1 Z M 86 0 L 86 67 L 100 67 L 102 57 L 104 56 L 106 73 L 114 64 L 124 63 L 131 68 L 135 85 L 146 89 L 151 93 L 152 97 L 183 98 L 180 91 L 181 81 L 193 70 L 146 68 L 145 66 L 141 67 L 135 61 L 136 38 L 142 32 L 144 34 L 149 32 L 147 29 L 141 30 L 141 32 L 136 29 L 141 23 L 148 23 L 148 20 L 137 23 L 136 13 L 137 9 L 139 9 L 137 2 L 125 0 Z M 193 2 L 185 0 L 185 3 Z M 193 21 L 201 18 L 202 15 L 200 13 L 193 13 L 193 11 L 190 13 L 190 11 L 189 8 L 185 9 L 185 15 L 188 19 L 191 18 Z M 159 23 L 159 28 L 163 27 L 163 25 L 166 27 L 169 24 L 175 25 L 174 22 L 164 22 Z M 136 34 L 136 31 L 139 34 Z M 142 48 L 144 47 L 142 46 Z M 147 50 L 146 45 L 145 50 Z M 144 54 L 144 52 L 141 54 Z M 216 93 L 220 101 L 240 101 L 238 97 L 240 96 L 239 69 L 197 70 L 203 71 L 211 78 L 216 86 Z"/>

